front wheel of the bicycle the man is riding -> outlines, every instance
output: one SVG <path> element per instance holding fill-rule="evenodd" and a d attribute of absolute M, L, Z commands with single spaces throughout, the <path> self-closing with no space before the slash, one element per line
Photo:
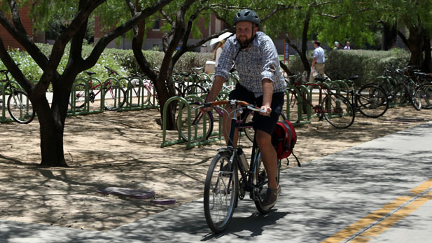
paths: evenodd
<path fill-rule="evenodd" d="M 237 165 L 234 162 L 230 166 L 230 153 L 217 153 L 204 184 L 204 215 L 213 232 L 222 232 L 230 224 L 237 200 L 237 183 Z"/>

